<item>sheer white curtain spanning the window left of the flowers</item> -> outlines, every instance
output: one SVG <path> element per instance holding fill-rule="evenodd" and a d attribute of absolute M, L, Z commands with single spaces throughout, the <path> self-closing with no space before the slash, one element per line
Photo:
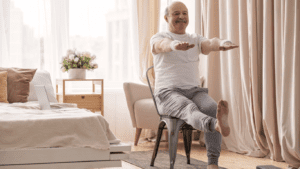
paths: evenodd
<path fill-rule="evenodd" d="M 68 0 L 1 0 L 0 66 L 37 68 L 61 77 L 68 48 Z"/>

